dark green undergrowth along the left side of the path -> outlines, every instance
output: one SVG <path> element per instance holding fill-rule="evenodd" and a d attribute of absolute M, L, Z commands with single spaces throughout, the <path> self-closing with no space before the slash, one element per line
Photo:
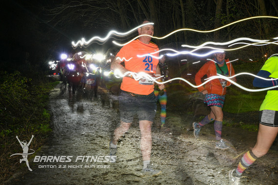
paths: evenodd
<path fill-rule="evenodd" d="M 36 150 L 51 131 L 47 104 L 55 84 L 27 78 L 18 71 L 0 72 L 0 182 L 16 168 L 18 157 L 10 157 L 22 149 L 16 136 L 29 141 L 34 135 L 30 148 Z"/>

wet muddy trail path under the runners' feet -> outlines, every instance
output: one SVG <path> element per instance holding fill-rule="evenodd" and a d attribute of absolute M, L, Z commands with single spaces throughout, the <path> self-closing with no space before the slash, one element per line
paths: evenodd
<path fill-rule="evenodd" d="M 117 161 L 110 162 L 108 143 L 119 126 L 117 101 L 110 108 L 99 88 L 97 98 L 82 91 L 71 95 L 59 84 L 50 93 L 53 116 L 49 140 L 25 162 L 5 185 L 227 185 L 228 171 L 256 143 L 257 132 L 223 127 L 222 137 L 230 146 L 215 149 L 213 124 L 193 135 L 193 115 L 186 110 L 168 111 L 168 129 L 160 129 L 160 106 L 152 126 L 151 163 L 162 171 L 158 176 L 142 172 L 140 131 L 135 119 L 118 144 Z M 39 156 L 39 161 L 38 161 Z M 59 161 L 51 157 L 59 157 Z M 106 156 L 106 158 L 105 158 Z M 19 158 L 20 159 L 20 158 Z M 48 159 L 48 160 L 46 160 Z M 243 185 L 278 184 L 278 144 L 259 158 L 241 178 Z"/>

